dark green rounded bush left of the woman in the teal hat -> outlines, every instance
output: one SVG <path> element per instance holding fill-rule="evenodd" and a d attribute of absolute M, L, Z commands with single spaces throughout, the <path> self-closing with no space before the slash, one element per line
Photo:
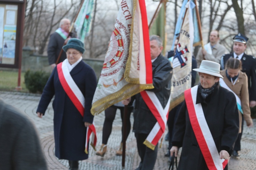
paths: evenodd
<path fill-rule="evenodd" d="M 26 88 L 32 93 L 42 93 L 50 73 L 44 71 L 26 71 L 24 78 Z"/>

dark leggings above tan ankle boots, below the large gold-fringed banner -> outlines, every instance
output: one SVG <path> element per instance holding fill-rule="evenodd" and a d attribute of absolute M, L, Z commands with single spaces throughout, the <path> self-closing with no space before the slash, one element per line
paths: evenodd
<path fill-rule="evenodd" d="M 124 107 L 118 107 L 118 106 L 110 106 L 109 108 L 105 109 L 105 120 L 103 124 L 103 130 L 102 130 L 102 144 L 107 144 L 109 140 L 109 136 L 112 131 L 112 124 L 116 116 L 116 110 L 120 109 L 121 112 L 121 119 L 122 124 L 124 124 Z M 127 127 L 126 127 L 126 139 L 131 131 L 131 122 L 130 122 L 130 116 L 132 112 L 133 107 L 127 108 Z M 123 126 L 122 126 L 122 142 L 123 142 Z"/>

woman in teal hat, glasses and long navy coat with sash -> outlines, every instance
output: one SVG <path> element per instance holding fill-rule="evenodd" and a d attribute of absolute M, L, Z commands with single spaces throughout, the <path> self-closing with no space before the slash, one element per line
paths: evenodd
<path fill-rule="evenodd" d="M 49 77 L 40 99 L 37 115 L 42 118 L 53 96 L 55 155 L 69 160 L 70 170 L 78 169 L 85 153 L 86 129 L 92 125 L 91 103 L 97 86 L 94 70 L 82 60 L 84 43 L 71 38 L 63 46 L 67 59 Z"/>

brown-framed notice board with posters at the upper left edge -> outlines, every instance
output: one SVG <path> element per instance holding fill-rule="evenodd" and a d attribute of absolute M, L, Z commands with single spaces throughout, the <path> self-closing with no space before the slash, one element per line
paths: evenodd
<path fill-rule="evenodd" d="M 24 0 L 0 0 L 0 67 L 18 68 L 22 55 Z"/>

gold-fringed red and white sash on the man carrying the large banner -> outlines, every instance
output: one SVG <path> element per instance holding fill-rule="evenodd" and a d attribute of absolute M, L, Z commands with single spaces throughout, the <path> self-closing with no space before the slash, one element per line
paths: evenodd
<path fill-rule="evenodd" d="M 155 150 L 155 146 L 157 145 L 159 139 L 165 132 L 165 126 L 169 114 L 171 95 L 165 108 L 162 107 L 160 101 L 158 100 L 154 92 L 144 90 L 141 91 L 141 96 L 157 120 L 155 126 L 153 127 L 150 134 L 147 136 L 146 140 L 143 143 L 148 148 Z"/>

